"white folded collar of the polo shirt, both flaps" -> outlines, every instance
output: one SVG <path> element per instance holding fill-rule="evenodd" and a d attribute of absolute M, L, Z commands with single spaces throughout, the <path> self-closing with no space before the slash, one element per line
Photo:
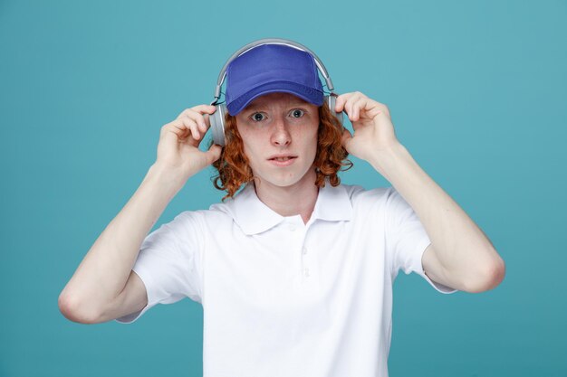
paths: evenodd
<path fill-rule="evenodd" d="M 246 184 L 242 191 L 233 199 L 227 200 L 225 205 L 236 224 L 247 235 L 268 231 L 285 220 L 284 216 L 274 212 L 258 199 L 253 183 Z M 342 184 L 332 187 L 327 181 L 325 186 L 319 189 L 310 222 L 350 221 L 351 216 L 352 204 L 346 188 Z"/>

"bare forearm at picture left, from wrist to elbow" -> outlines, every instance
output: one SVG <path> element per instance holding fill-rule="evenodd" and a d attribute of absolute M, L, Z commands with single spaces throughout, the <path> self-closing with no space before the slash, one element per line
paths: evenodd
<path fill-rule="evenodd" d="M 84 316 L 95 315 L 117 297 L 138 258 L 139 247 L 181 183 L 157 165 L 149 168 L 136 193 L 101 232 L 61 297 Z"/>

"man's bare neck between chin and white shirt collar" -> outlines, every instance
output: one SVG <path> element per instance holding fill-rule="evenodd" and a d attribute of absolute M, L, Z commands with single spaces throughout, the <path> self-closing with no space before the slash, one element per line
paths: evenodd
<path fill-rule="evenodd" d="M 311 218 L 319 187 L 315 185 L 315 171 L 305 174 L 296 184 L 275 186 L 267 182 L 255 180 L 255 191 L 258 199 L 274 212 L 282 216 L 301 215 L 303 223 Z"/>

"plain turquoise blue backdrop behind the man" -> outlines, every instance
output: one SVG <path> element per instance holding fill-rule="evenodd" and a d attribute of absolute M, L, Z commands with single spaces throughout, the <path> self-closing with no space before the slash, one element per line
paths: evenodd
<path fill-rule="evenodd" d="M 226 59 L 264 37 L 302 42 L 336 90 L 387 104 L 505 259 L 482 294 L 400 273 L 390 375 L 567 375 L 567 3 L 463 3 L 0 1 L 0 375 L 202 375 L 197 303 L 79 325 L 57 297 L 155 161 L 159 128 L 209 103 Z M 389 185 L 354 163 L 344 183 Z M 159 223 L 216 203 L 211 175 Z"/>

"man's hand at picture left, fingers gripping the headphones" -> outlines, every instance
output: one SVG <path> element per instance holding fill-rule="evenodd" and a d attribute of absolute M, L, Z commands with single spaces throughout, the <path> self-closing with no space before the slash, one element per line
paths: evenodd
<path fill-rule="evenodd" d="M 214 112 L 212 105 L 197 105 L 161 127 L 156 165 L 176 174 L 182 184 L 220 157 L 220 146 L 213 145 L 207 152 L 198 148 L 210 127 L 208 116 Z"/>

